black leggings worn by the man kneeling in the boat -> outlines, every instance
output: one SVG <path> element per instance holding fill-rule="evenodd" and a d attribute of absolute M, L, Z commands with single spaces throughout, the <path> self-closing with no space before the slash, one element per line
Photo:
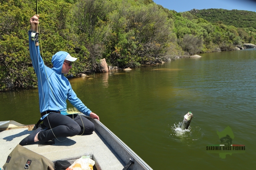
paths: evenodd
<path fill-rule="evenodd" d="M 52 112 L 43 121 L 48 128 L 38 133 L 38 140 L 43 142 L 59 137 L 91 134 L 94 131 L 93 122 L 78 114 L 62 115 Z"/>

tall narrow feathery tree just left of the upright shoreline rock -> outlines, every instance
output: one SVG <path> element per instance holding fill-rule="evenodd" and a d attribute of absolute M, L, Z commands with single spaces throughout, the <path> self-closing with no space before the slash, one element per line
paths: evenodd
<path fill-rule="evenodd" d="M 87 62 L 91 62 L 92 70 L 95 70 L 105 50 L 104 41 L 111 29 L 107 17 L 111 7 L 107 0 L 83 0 L 73 9 L 73 29 L 78 34 L 73 40 L 87 48 Z"/>

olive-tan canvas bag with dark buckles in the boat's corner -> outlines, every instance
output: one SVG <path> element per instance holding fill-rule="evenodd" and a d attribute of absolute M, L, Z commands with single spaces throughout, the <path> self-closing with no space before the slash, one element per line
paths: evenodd
<path fill-rule="evenodd" d="M 46 157 L 17 145 L 9 154 L 4 170 L 54 170 L 54 163 Z"/>

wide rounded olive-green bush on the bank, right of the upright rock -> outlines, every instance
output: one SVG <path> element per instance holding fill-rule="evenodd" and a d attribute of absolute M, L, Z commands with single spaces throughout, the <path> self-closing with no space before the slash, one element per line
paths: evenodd
<path fill-rule="evenodd" d="M 121 68 L 144 62 L 162 62 L 171 56 L 168 49 L 175 42 L 174 24 L 155 4 L 133 6 L 117 3 L 110 15 L 112 34 L 105 57 Z"/>

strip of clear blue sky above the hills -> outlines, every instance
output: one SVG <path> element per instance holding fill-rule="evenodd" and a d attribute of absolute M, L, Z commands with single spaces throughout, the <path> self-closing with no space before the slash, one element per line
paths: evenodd
<path fill-rule="evenodd" d="M 164 8 L 177 12 L 190 11 L 191 9 L 238 9 L 256 12 L 256 0 L 153 0 L 154 3 Z"/>

